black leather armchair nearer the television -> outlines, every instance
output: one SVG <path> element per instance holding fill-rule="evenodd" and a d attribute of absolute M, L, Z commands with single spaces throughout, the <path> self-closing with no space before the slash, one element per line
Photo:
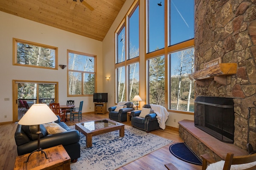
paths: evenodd
<path fill-rule="evenodd" d="M 127 121 L 127 112 L 133 111 L 134 110 L 134 107 L 133 107 L 134 105 L 133 105 L 132 102 L 127 102 L 124 105 L 126 105 L 126 108 L 119 109 L 118 112 L 115 111 L 116 106 L 109 107 L 108 108 L 109 118 L 111 120 L 119 121 L 119 122 Z"/>

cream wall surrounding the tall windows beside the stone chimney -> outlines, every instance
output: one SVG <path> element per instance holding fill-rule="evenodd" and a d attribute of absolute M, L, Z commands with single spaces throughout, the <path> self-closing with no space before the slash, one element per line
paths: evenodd
<path fill-rule="evenodd" d="M 115 31 L 128 9 L 132 5 L 132 0 L 125 1 L 124 6 L 120 10 L 119 14 L 116 17 L 116 20 L 110 27 L 106 37 L 103 40 L 103 77 L 110 76 L 110 81 L 103 80 L 103 89 L 104 92 L 108 93 L 108 104 L 107 107 L 111 107 L 115 105 Z M 142 98 L 142 102 L 140 105 L 146 104 L 146 71 L 145 71 L 145 1 L 140 0 L 140 97 Z M 178 122 L 184 119 L 193 120 L 193 115 L 181 114 L 170 112 L 168 120 L 166 122 L 167 126 L 171 127 L 179 127 Z M 176 122 L 174 122 L 174 120 Z"/>

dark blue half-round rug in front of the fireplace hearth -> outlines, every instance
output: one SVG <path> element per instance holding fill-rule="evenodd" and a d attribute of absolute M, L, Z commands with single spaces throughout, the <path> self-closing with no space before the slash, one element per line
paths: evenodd
<path fill-rule="evenodd" d="M 182 161 L 185 161 L 191 164 L 202 165 L 202 161 L 185 143 L 172 144 L 169 150 L 170 150 L 170 153 L 172 153 L 176 158 L 179 158 Z"/>

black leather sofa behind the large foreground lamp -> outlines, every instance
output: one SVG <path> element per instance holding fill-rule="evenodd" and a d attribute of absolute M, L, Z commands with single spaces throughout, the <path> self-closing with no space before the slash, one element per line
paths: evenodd
<path fill-rule="evenodd" d="M 65 132 L 48 135 L 45 127 L 41 124 L 40 131 L 40 147 L 46 149 L 62 144 L 72 162 L 76 162 L 77 158 L 80 157 L 80 134 L 78 130 L 71 130 L 64 122 L 60 122 L 59 119 L 55 121 Z M 31 153 L 37 149 L 37 125 L 24 126 L 18 124 L 15 132 L 15 142 L 17 145 L 18 156 Z"/>

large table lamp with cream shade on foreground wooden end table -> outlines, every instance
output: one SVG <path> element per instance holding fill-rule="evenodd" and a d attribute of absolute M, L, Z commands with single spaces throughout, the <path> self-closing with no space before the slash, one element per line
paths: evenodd
<path fill-rule="evenodd" d="M 54 114 L 54 112 L 46 105 L 46 104 L 33 104 L 30 109 L 25 113 L 25 115 L 18 121 L 18 124 L 21 125 L 37 125 L 37 150 L 34 152 L 41 151 L 45 153 L 44 150 L 40 147 L 40 124 L 46 124 L 53 121 L 56 121 L 58 117 Z M 30 155 L 32 154 L 30 153 Z M 30 158 L 30 155 L 27 157 L 27 161 Z M 48 156 L 45 153 L 45 158 L 48 159 Z"/>

